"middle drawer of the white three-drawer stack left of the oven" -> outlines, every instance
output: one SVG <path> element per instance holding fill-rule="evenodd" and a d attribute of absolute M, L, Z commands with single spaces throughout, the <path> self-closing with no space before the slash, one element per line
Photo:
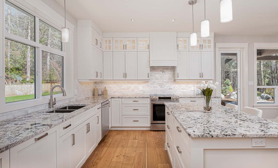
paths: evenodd
<path fill-rule="evenodd" d="M 122 115 L 150 115 L 150 104 L 123 104 Z"/>

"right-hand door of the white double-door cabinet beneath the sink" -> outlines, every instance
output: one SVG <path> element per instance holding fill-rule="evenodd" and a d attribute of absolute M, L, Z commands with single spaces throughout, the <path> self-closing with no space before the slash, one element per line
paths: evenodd
<path fill-rule="evenodd" d="M 97 123 L 97 117 L 94 115 L 86 122 L 86 152 L 87 156 L 90 156 L 93 150 L 97 147 L 96 142 L 96 130 L 95 123 Z"/>

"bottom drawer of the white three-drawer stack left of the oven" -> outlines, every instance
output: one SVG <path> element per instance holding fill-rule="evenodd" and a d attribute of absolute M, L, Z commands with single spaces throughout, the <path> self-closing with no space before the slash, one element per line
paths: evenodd
<path fill-rule="evenodd" d="M 149 115 L 123 115 L 123 126 L 150 126 Z"/>

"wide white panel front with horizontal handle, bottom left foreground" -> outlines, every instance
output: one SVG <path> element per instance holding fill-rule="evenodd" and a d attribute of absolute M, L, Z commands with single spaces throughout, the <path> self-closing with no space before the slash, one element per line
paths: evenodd
<path fill-rule="evenodd" d="M 59 126 L 53 127 L 10 149 L 10 168 L 57 167 Z"/>

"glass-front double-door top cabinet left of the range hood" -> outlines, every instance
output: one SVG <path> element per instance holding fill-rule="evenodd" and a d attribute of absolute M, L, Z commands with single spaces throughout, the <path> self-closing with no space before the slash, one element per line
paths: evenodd
<path fill-rule="evenodd" d="M 113 51 L 137 51 L 137 38 L 113 38 Z"/>

